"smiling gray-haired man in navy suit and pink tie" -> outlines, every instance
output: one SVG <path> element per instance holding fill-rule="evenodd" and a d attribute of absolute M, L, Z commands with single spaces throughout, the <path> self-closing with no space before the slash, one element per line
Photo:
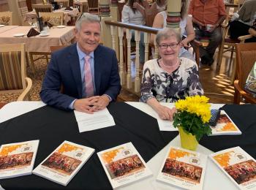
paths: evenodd
<path fill-rule="evenodd" d="M 40 92 L 42 102 L 63 110 L 94 113 L 116 99 L 121 89 L 116 53 L 99 45 L 100 31 L 97 15 L 84 13 L 80 17 L 75 24 L 77 43 L 51 56 Z M 85 68 L 86 61 L 91 72 Z M 91 73 L 89 79 L 86 73 Z M 86 91 L 86 79 L 91 94 Z"/>

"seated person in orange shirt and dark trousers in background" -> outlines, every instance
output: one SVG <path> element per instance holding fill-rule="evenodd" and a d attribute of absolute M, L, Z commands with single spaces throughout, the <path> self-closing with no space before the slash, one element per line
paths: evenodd
<path fill-rule="evenodd" d="M 195 28 L 195 37 L 208 37 L 209 44 L 206 48 L 200 47 L 201 64 L 214 63 L 214 53 L 222 42 L 221 25 L 226 18 L 223 0 L 191 0 L 189 15 Z"/>

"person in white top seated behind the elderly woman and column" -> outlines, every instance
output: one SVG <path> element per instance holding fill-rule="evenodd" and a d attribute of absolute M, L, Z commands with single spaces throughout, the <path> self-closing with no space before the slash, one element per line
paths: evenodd
<path fill-rule="evenodd" d="M 181 50 L 180 50 L 180 57 L 189 58 L 192 61 L 195 61 L 195 58 L 186 50 L 184 47 L 189 46 L 189 42 L 195 39 L 195 31 L 192 26 L 192 18 L 187 15 L 187 7 L 189 6 L 189 0 L 182 0 L 181 6 L 181 22 L 179 27 L 181 28 L 181 37 L 185 37 L 181 41 Z M 157 14 L 154 18 L 153 28 L 165 28 L 167 25 L 166 22 L 167 18 L 167 11 L 162 11 Z M 154 34 L 151 34 L 151 43 L 154 43 Z"/>

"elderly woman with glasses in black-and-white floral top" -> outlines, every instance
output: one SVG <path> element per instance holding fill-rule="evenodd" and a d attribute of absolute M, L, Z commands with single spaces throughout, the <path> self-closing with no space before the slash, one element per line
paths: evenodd
<path fill-rule="evenodd" d="M 197 64 L 189 58 L 178 58 L 181 36 L 173 28 L 164 28 L 156 37 L 161 58 L 146 61 L 140 101 L 149 104 L 160 118 L 172 120 L 175 109 L 159 102 L 176 102 L 186 96 L 203 95 Z"/>

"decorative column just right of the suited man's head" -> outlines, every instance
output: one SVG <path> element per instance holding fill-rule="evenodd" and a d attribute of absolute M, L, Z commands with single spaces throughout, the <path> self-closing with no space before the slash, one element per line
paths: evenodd
<path fill-rule="evenodd" d="M 99 0 L 99 16 L 101 17 L 102 24 L 102 43 L 103 45 L 112 48 L 110 26 L 105 24 L 105 20 L 111 20 L 109 3 L 110 0 Z"/>

